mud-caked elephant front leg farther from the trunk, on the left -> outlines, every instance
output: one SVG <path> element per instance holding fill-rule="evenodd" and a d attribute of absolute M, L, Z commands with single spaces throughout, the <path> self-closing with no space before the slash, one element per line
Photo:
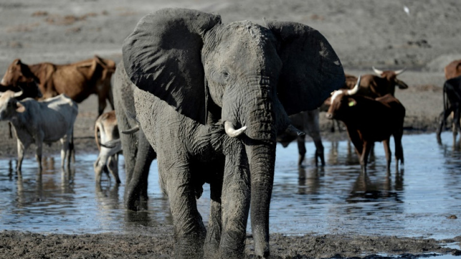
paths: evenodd
<path fill-rule="evenodd" d="M 157 159 L 173 216 L 175 258 L 202 258 L 206 230 L 197 210 L 190 165 L 177 157 Z"/>

